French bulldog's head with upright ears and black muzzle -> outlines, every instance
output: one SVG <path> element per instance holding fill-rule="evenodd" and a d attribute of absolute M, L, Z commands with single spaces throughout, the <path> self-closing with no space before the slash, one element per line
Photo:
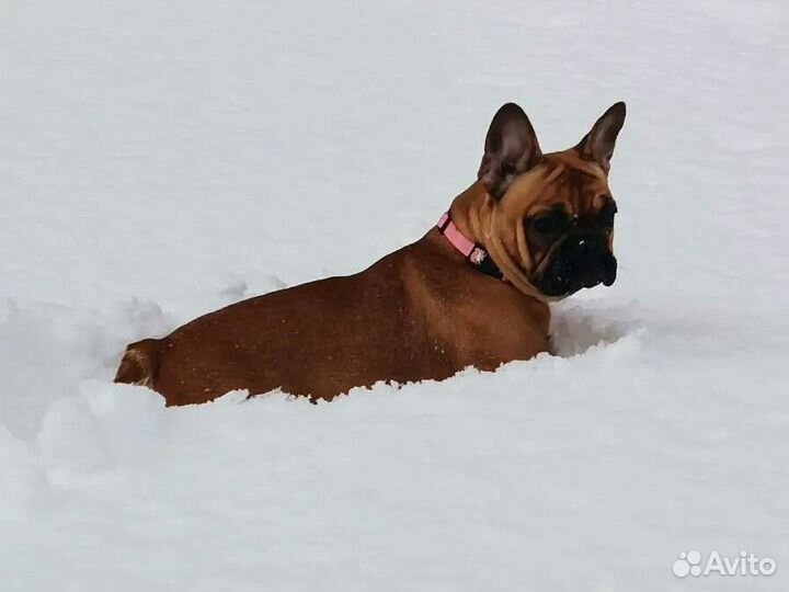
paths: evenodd
<path fill-rule="evenodd" d="M 616 103 L 578 146 L 544 155 L 519 106 L 495 114 L 478 179 L 488 194 L 485 247 L 507 280 L 545 299 L 614 283 L 608 171 L 624 123 L 625 103 Z"/>

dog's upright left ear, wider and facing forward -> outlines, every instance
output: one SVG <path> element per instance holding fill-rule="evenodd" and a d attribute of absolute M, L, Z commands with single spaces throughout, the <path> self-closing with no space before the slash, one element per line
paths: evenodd
<path fill-rule="evenodd" d="M 477 179 L 499 200 L 516 175 L 529 170 L 542 158 L 531 122 L 515 103 L 503 105 L 493 116 L 485 136 Z"/>

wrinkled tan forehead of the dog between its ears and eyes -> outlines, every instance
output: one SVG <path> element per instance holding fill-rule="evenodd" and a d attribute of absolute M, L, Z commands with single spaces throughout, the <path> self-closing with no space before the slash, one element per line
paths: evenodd
<path fill-rule="evenodd" d="M 556 204 L 583 214 L 599 208 L 607 195 L 610 191 L 603 169 L 568 150 L 545 155 L 540 164 L 513 181 L 500 205 L 518 216 Z"/>

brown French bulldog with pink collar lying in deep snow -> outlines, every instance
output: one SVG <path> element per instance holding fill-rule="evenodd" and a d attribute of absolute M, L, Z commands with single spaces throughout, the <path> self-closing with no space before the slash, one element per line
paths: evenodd
<path fill-rule="evenodd" d="M 233 304 L 130 344 L 115 382 L 168 405 L 281 387 L 332 399 L 378 380 L 492 371 L 548 350 L 548 301 L 610 285 L 607 175 L 625 104 L 544 155 L 523 110 L 493 117 L 477 181 L 420 240 L 371 267 Z"/>

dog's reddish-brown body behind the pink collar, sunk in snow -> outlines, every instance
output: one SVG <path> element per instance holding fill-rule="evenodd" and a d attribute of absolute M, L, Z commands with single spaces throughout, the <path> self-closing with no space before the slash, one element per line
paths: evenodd
<path fill-rule="evenodd" d="M 548 309 L 524 298 L 434 230 L 358 274 L 250 298 L 133 343 L 115 382 L 145 385 L 173 406 L 239 389 L 331 400 L 378 380 L 493 369 L 547 349 Z M 490 300 L 498 314 L 480 316 Z"/>

